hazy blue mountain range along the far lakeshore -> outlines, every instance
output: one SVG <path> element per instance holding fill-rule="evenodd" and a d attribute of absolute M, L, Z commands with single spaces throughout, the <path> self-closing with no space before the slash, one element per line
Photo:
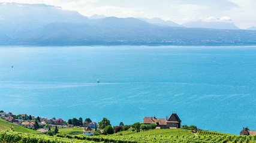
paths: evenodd
<path fill-rule="evenodd" d="M 256 30 L 232 23 L 85 17 L 45 4 L 0 3 L 1 45 L 255 45 Z M 194 28 L 196 27 L 196 28 Z M 237 29 L 237 30 L 236 30 Z"/>

